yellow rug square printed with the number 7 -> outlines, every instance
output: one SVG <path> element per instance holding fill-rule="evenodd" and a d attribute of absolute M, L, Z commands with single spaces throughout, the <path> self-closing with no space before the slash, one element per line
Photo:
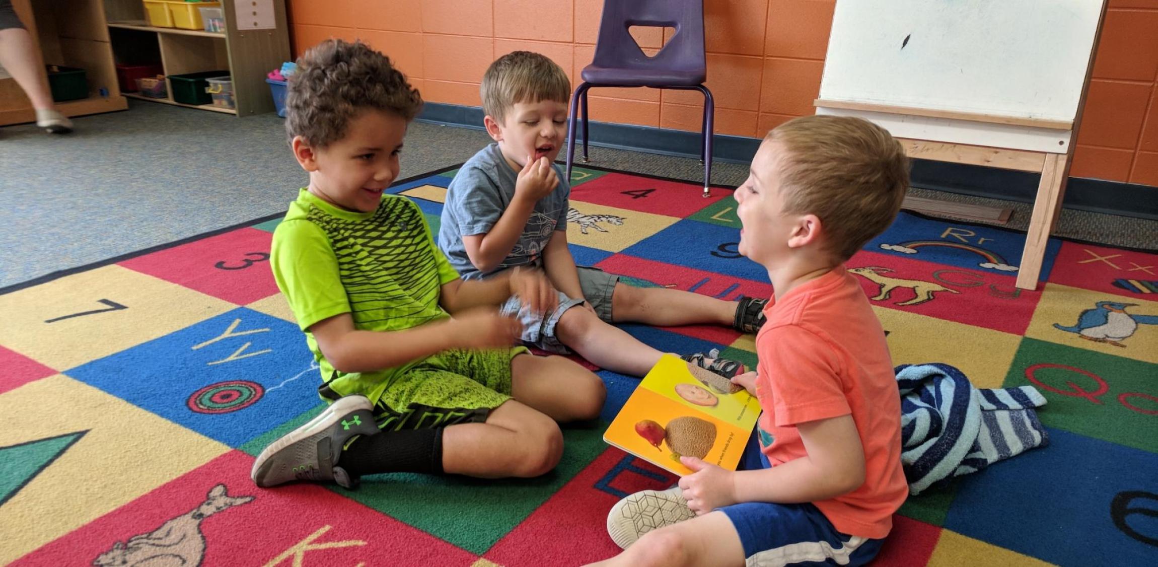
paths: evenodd
<path fill-rule="evenodd" d="M 235 307 L 111 265 L 0 295 L 0 345 L 67 370 Z"/>

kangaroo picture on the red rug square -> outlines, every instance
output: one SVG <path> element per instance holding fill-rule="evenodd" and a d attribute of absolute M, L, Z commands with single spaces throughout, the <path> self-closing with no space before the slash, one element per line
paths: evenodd
<path fill-rule="evenodd" d="M 234 506 L 254 500 L 254 496 L 230 496 L 223 484 L 210 489 L 200 506 L 161 524 L 160 528 L 117 542 L 112 548 L 93 560 L 96 567 L 195 567 L 205 555 L 205 536 L 201 522 Z"/>

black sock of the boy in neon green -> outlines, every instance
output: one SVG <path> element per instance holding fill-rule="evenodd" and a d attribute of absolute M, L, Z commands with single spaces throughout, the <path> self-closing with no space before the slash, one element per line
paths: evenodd
<path fill-rule="evenodd" d="M 338 462 L 351 476 L 383 472 L 442 474 L 442 427 L 361 435 Z"/>

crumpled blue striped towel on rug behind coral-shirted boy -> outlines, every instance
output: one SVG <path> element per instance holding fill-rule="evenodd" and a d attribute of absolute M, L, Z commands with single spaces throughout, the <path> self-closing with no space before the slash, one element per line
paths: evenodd
<path fill-rule="evenodd" d="M 979 389 L 948 365 L 896 367 L 901 395 L 901 462 L 909 493 L 980 471 L 1049 443 L 1033 386 Z"/>

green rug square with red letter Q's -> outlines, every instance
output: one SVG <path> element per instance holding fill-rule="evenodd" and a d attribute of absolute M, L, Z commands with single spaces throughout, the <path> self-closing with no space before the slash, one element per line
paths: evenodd
<path fill-rule="evenodd" d="M 1036 388 L 1048 400 L 1038 408 L 1047 427 L 1158 452 L 1155 376 L 1158 365 L 1026 337 L 1004 386 Z"/>

